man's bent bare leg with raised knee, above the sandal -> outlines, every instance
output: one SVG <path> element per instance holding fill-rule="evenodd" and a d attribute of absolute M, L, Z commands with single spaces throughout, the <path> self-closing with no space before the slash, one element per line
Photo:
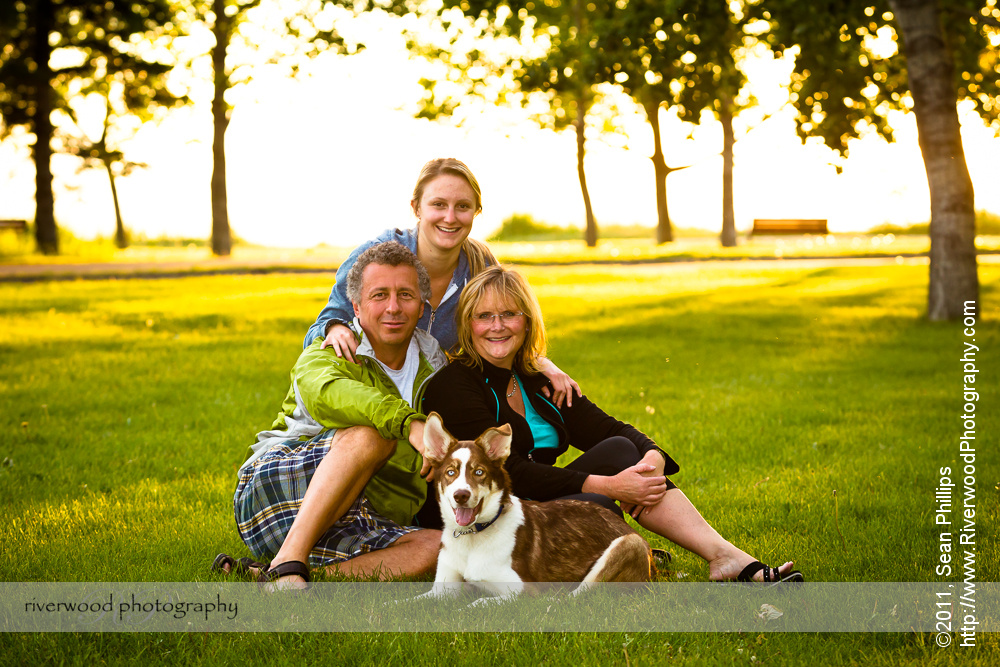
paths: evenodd
<path fill-rule="evenodd" d="M 271 567 L 287 561 L 309 562 L 309 552 L 330 526 L 337 523 L 385 465 L 396 448 L 395 440 L 385 440 L 373 428 L 352 426 L 337 431 L 302 498 L 295 521 Z M 282 581 L 301 582 L 297 575 Z"/>

